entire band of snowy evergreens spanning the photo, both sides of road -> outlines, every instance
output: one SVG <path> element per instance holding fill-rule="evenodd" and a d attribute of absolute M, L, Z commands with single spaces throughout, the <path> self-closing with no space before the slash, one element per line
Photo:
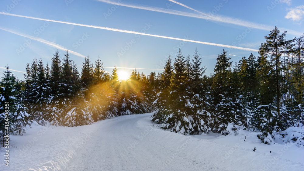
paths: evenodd
<path fill-rule="evenodd" d="M 81 73 L 69 52 L 55 52 L 51 64 L 34 59 L 26 64 L 25 80 L 18 80 L 9 66 L 0 82 L 0 119 L 5 130 L 4 102 L 10 104 L 10 129 L 25 132 L 31 121 L 80 126 L 120 115 L 152 112 L 152 121 L 180 134 L 209 131 L 227 134 L 227 125 L 260 131 L 264 139 L 290 126 L 303 124 L 304 35 L 285 39 L 277 27 L 259 48 L 240 61 L 231 61 L 223 50 L 214 74 L 206 76 L 201 56 L 181 50 L 168 58 L 162 73 L 146 76 L 132 71 L 118 80 L 117 68 L 105 72 L 101 59 L 83 62 Z M 3 137 L 3 136 L 2 136 Z M 265 142 L 267 143 L 267 142 Z"/>

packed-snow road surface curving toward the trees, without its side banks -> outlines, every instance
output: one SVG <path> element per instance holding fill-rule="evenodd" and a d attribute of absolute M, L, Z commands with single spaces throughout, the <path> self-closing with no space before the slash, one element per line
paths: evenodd
<path fill-rule="evenodd" d="M 190 160 L 193 156 L 188 156 L 186 150 L 178 153 L 176 148 L 172 148 L 175 140 L 172 141 L 169 137 L 157 138 L 162 131 L 152 127 L 149 116 L 150 114 L 129 115 L 124 119 L 101 125 L 99 129 L 101 132 L 96 133 L 95 142 L 92 142 L 94 148 L 87 152 L 89 156 L 86 159 L 87 165 L 79 164 L 80 161 L 76 160 L 77 162 L 73 162 L 70 169 L 201 170 L 201 166 Z M 186 143 L 187 139 L 179 141 Z M 166 160 L 168 166 L 164 163 Z M 212 166 L 203 168 L 203 170 L 219 169 Z"/>

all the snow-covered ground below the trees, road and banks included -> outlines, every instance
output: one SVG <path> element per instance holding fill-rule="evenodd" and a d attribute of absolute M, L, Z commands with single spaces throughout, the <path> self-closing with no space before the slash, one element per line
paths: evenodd
<path fill-rule="evenodd" d="M 0 170 L 304 170 L 304 148 L 295 143 L 261 144 L 244 130 L 184 136 L 161 130 L 150 116 L 79 127 L 33 123 L 25 135 L 10 136 L 9 167 L 1 148 Z"/>

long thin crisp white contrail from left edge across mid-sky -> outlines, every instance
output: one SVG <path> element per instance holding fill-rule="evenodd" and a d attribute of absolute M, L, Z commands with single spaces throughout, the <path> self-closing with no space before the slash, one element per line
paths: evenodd
<path fill-rule="evenodd" d="M 202 42 L 202 41 L 196 41 L 196 40 L 181 39 L 181 38 L 168 37 L 168 36 L 159 36 L 159 35 L 147 34 L 147 33 L 142 33 L 142 32 L 134 32 L 134 31 L 128 31 L 128 30 L 113 29 L 113 28 L 109 28 L 109 27 L 101 27 L 101 26 L 92 26 L 92 25 L 86 25 L 86 24 L 78 24 L 78 23 L 73 23 L 73 22 L 64 22 L 64 21 L 57 21 L 57 20 L 50 20 L 50 19 L 41 19 L 41 18 L 37 18 L 37 17 L 29 17 L 29 16 L 24 16 L 24 15 L 16 15 L 16 14 L 10 14 L 10 13 L 6 13 L 6 12 L 0 12 L 0 14 L 17 16 L 17 17 L 23 17 L 23 18 L 29 18 L 29 19 L 37 19 L 37 20 L 43 20 L 43 21 L 50 21 L 50 22 L 59 22 L 59 23 L 71 24 L 71 25 L 75 25 L 75 26 L 92 27 L 92 28 L 104 29 L 104 30 L 110 30 L 110 31 L 116 31 L 116 32 L 125 32 L 125 33 L 131 33 L 131 34 L 139 34 L 139 35 L 160 37 L 160 38 L 165 38 L 165 39 L 173 39 L 173 40 L 181 40 L 181 41 L 186 41 L 186 42 L 201 43 L 201 44 L 206 44 L 206 45 L 220 46 L 220 47 L 226 47 L 226 48 L 232 48 L 232 49 L 240 49 L 240 50 L 254 51 L 254 52 L 258 51 L 256 49 L 251 49 L 251 48 L 244 48 L 244 47 L 238 47 L 238 46 L 223 45 L 223 44 L 218 44 L 218 43 Z"/>

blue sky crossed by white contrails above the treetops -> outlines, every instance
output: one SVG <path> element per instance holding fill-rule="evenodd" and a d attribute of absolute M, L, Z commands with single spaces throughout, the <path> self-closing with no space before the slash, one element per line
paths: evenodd
<path fill-rule="evenodd" d="M 106 71 L 116 65 L 148 75 L 161 72 L 156 69 L 162 69 L 168 55 L 174 58 L 180 47 L 185 56 L 192 56 L 197 48 L 209 76 L 223 49 L 233 61 L 239 61 L 251 52 L 257 56 L 264 36 L 275 26 L 287 31 L 287 39 L 304 32 L 304 3 L 300 0 L 177 2 L 2 0 L 0 70 L 9 65 L 23 80 L 27 62 L 41 57 L 44 64 L 50 64 L 58 49 L 61 57 L 69 50 L 79 70 L 84 56 L 92 62 L 100 56 L 103 66 L 109 67 Z"/>

